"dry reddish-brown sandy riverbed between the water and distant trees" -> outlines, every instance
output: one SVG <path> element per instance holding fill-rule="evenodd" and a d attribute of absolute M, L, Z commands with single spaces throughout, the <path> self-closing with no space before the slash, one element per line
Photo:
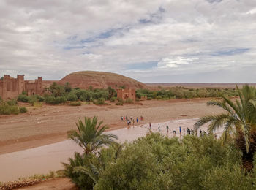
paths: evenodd
<path fill-rule="evenodd" d="M 143 124 L 200 118 L 221 111 L 217 107 L 207 107 L 206 102 L 207 99 L 174 99 L 143 101 L 124 106 L 83 104 L 79 109 L 67 105 L 28 107 L 28 113 L 0 116 L 0 154 L 67 140 L 67 131 L 76 129 L 75 122 L 84 116 L 97 115 L 110 129 L 119 129 L 126 126 L 120 120 L 121 115 L 134 118 L 143 115 L 144 121 L 138 123 Z"/>

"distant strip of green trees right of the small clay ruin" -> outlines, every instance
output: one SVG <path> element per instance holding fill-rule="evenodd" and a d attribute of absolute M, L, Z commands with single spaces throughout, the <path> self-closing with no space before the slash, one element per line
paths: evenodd
<path fill-rule="evenodd" d="M 235 88 L 185 88 L 176 86 L 169 89 L 159 88 L 158 91 L 150 91 L 146 88 L 140 88 L 136 91 L 136 97 L 138 99 L 142 96 L 146 96 L 148 100 L 219 97 L 220 94 L 225 94 L 226 96 L 238 96 Z"/>

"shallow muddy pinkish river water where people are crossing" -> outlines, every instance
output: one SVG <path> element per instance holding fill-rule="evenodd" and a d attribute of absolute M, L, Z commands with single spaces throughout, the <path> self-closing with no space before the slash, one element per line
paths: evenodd
<path fill-rule="evenodd" d="M 152 132 L 158 132 L 158 124 L 160 132 L 168 137 L 182 137 L 183 129 L 193 128 L 197 119 L 173 120 L 164 123 L 152 123 Z M 167 133 L 166 125 L 169 126 Z M 182 127 L 181 135 L 178 132 L 178 127 Z M 146 136 L 149 132 L 149 125 L 129 126 L 129 129 L 117 129 L 109 133 L 118 136 L 118 142 L 132 141 L 138 137 Z M 206 126 L 203 127 L 206 130 Z M 177 134 L 173 134 L 176 130 Z M 63 166 L 61 162 L 67 162 L 69 157 L 72 157 L 74 152 L 82 152 L 82 149 L 72 142 L 65 140 L 62 142 L 44 145 L 37 148 L 30 148 L 24 151 L 6 153 L 0 155 L 0 181 L 6 182 L 10 180 L 18 180 L 18 178 L 29 177 L 34 174 L 46 174 L 50 170 L 61 170 Z"/>

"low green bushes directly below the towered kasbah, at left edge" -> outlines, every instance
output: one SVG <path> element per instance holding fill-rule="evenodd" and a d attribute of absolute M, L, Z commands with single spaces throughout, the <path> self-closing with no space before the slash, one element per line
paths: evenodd
<path fill-rule="evenodd" d="M 26 107 L 18 107 L 17 100 L 1 100 L 0 99 L 0 115 L 10 115 L 10 114 L 19 114 L 26 113 Z"/>

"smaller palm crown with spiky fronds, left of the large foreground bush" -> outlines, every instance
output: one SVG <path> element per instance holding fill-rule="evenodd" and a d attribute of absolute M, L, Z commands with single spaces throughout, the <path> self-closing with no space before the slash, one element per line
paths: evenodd
<path fill-rule="evenodd" d="M 118 137 L 114 134 L 103 134 L 108 126 L 101 126 L 103 121 L 98 124 L 96 116 L 94 118 L 84 118 L 84 123 L 79 118 L 78 123 L 75 123 L 78 127 L 78 132 L 75 130 L 69 131 L 68 137 L 80 145 L 83 148 L 84 153 L 89 154 L 103 145 L 110 145 L 115 143 Z"/>

